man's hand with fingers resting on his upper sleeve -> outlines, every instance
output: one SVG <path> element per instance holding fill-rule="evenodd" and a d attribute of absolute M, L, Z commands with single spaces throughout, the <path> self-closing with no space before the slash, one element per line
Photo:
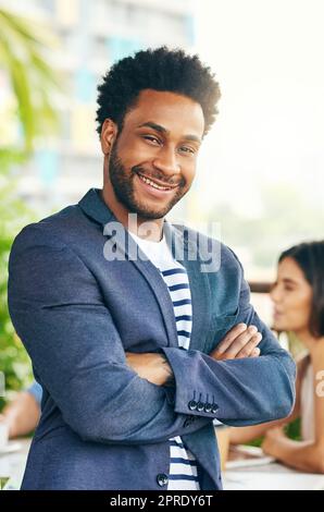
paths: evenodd
<path fill-rule="evenodd" d="M 247 327 L 246 324 L 238 324 L 210 353 L 210 357 L 216 361 L 258 357 L 260 349 L 257 345 L 261 340 L 262 334 L 258 332 L 256 326 Z"/>

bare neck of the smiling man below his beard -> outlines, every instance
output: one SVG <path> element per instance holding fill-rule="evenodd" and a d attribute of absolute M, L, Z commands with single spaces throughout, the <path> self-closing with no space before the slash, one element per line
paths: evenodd
<path fill-rule="evenodd" d="M 160 242 L 163 232 L 163 218 L 146 219 L 137 215 L 136 222 L 134 222 L 132 216 L 129 217 L 132 212 L 117 199 L 110 181 L 104 182 L 100 195 L 104 204 L 127 231 L 145 240 Z"/>

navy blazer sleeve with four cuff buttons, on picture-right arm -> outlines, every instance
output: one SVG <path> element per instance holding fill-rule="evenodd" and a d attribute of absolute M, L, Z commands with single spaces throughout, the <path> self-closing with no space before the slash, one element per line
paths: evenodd
<path fill-rule="evenodd" d="M 230 426 L 256 425 L 290 414 L 295 403 L 296 365 L 251 306 L 242 267 L 230 253 L 240 275 L 236 324 L 257 326 L 262 333 L 258 345 L 261 355 L 215 361 L 195 350 L 163 348 L 163 352 L 175 376 L 176 412 L 190 411 L 194 415 L 210 416 Z M 216 340 L 214 345 L 220 341 Z"/>

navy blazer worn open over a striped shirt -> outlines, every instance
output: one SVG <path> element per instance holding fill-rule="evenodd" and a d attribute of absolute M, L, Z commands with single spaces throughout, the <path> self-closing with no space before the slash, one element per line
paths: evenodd
<path fill-rule="evenodd" d="M 173 247 L 184 245 L 178 259 L 192 298 L 190 349 L 178 349 L 172 301 L 158 269 L 149 260 L 105 255 L 114 237 L 104 227 L 115 220 L 92 188 L 14 241 L 10 315 L 43 389 L 23 489 L 166 489 L 167 440 L 174 436 L 197 458 L 201 489 L 220 489 L 213 419 L 244 426 L 287 416 L 295 364 L 250 305 L 235 254 L 219 243 L 220 268 L 202 272 L 202 252 L 197 260 L 188 257 L 192 239 L 164 221 Z M 262 332 L 261 356 L 210 357 L 242 321 Z M 125 351 L 163 352 L 175 385 L 140 378 Z"/>

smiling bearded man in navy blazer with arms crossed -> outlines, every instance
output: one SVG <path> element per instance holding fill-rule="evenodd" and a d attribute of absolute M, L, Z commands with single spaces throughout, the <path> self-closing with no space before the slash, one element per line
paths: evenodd
<path fill-rule="evenodd" d="M 234 253 L 164 219 L 190 188 L 219 85 L 162 47 L 98 89 L 102 191 L 25 228 L 10 257 L 11 317 L 43 389 L 23 489 L 220 489 L 213 420 L 287 416 L 295 365 Z"/>

